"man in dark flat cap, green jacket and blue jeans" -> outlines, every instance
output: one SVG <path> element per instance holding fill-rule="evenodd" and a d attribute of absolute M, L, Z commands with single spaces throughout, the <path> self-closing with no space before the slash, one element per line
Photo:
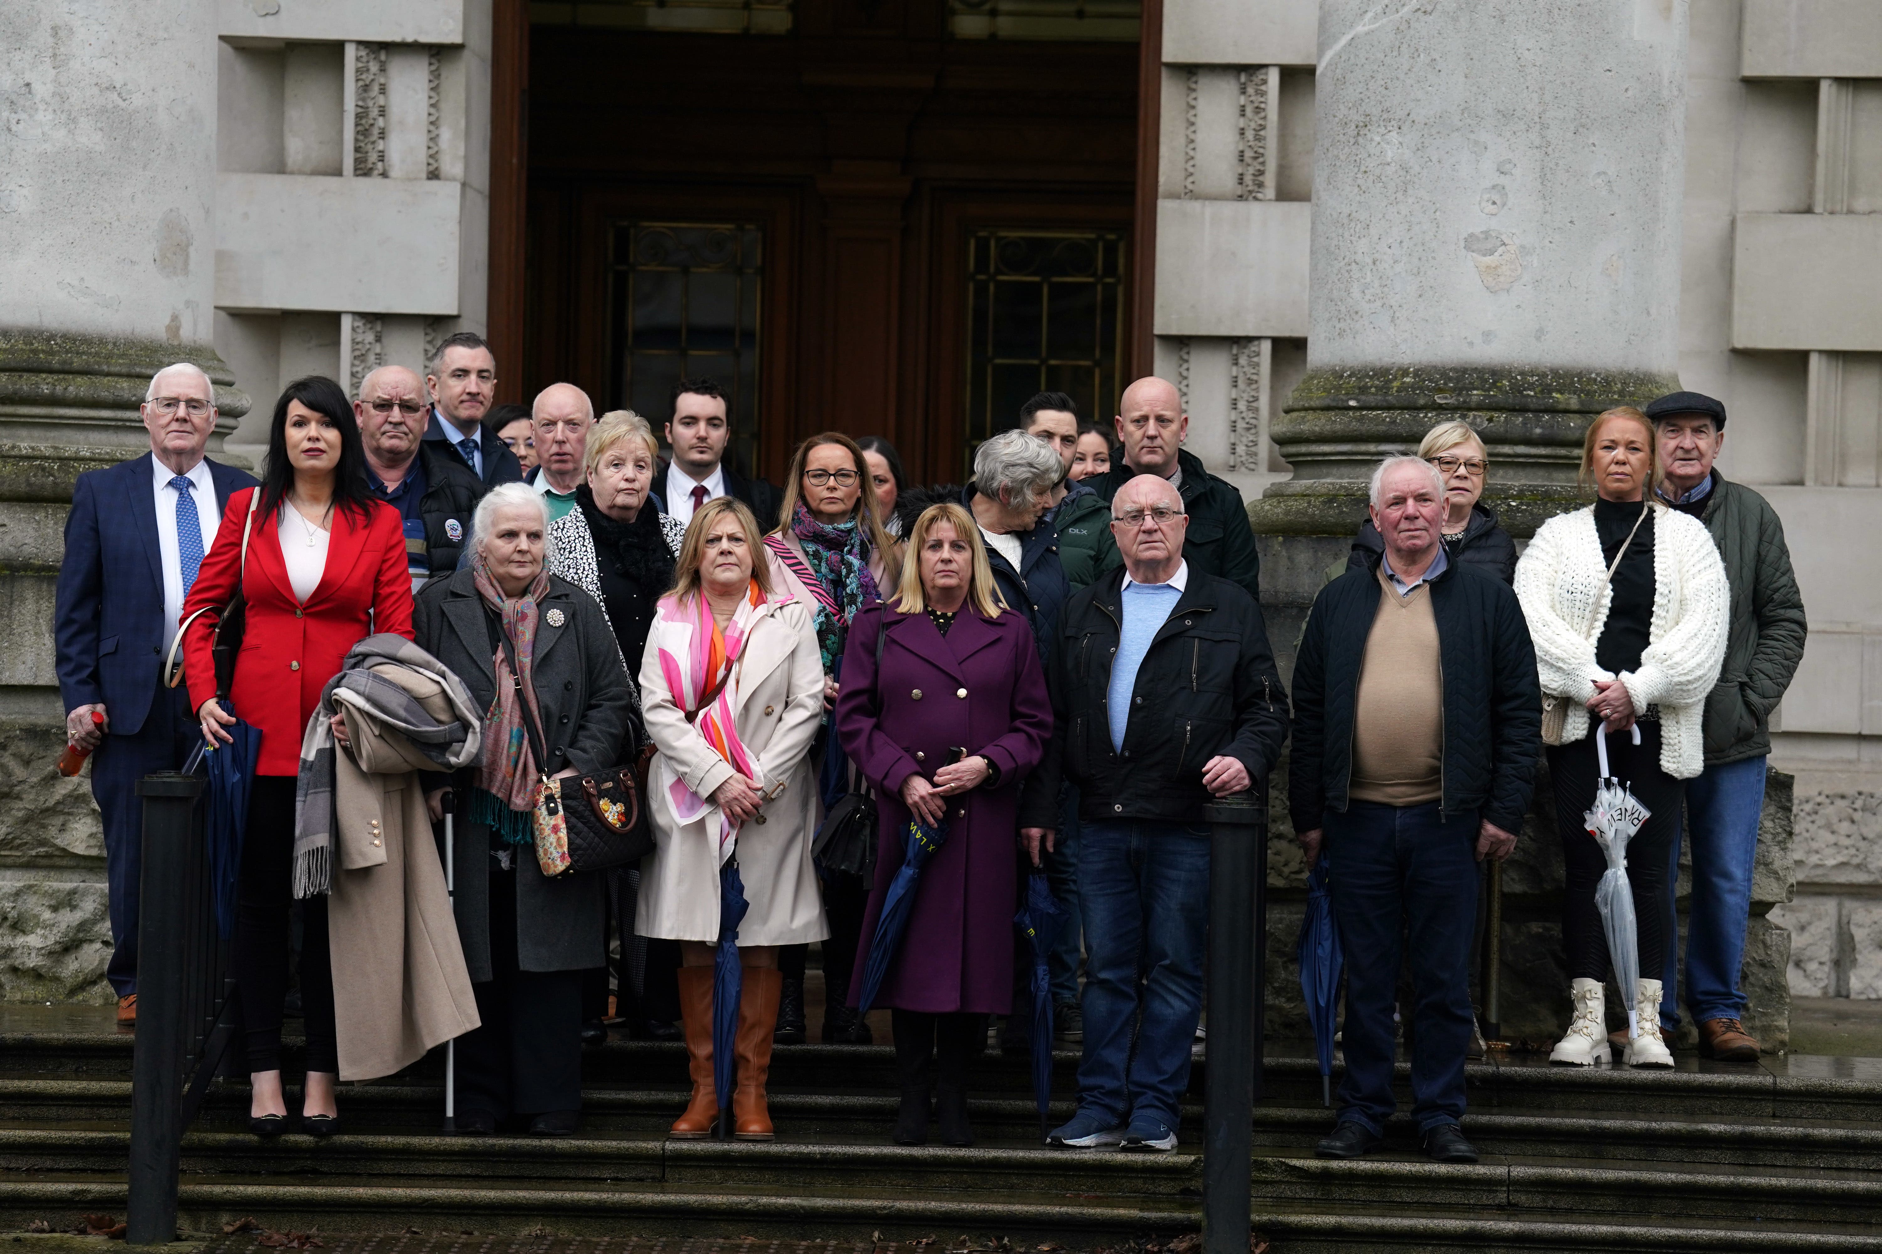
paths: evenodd
<path fill-rule="evenodd" d="M 1803 660 L 1807 622 L 1790 570 L 1784 525 L 1763 496 L 1713 470 L 1726 442 L 1726 406 L 1696 391 L 1675 391 L 1647 406 L 1660 444 L 1660 498 L 1713 534 L 1731 583 L 1731 635 L 1718 684 L 1705 701 L 1705 773 L 1686 780 L 1686 840 L 1692 848 L 1692 916 L 1686 933 L 1686 1008 L 1699 1025 L 1699 1053 L 1754 1062 L 1758 1040 L 1739 1017 L 1739 963 L 1752 902 L 1758 818 L 1763 812 L 1771 711 Z M 1673 840 L 1667 884 L 1679 878 Z M 1677 936 L 1673 895 L 1666 934 Z M 1667 946 L 1662 1028 L 1679 1025 Z"/>

